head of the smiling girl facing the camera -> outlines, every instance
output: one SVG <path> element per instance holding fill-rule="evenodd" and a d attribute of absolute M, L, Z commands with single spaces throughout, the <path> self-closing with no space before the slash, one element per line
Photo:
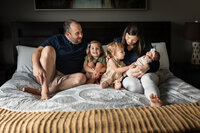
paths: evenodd
<path fill-rule="evenodd" d="M 88 48 L 86 50 L 86 53 L 89 57 L 89 60 L 93 60 L 94 58 L 97 59 L 99 58 L 101 55 L 104 55 L 104 50 L 103 50 L 103 47 L 101 45 L 100 42 L 94 40 L 94 41 L 91 41 L 89 44 L 88 44 Z"/>

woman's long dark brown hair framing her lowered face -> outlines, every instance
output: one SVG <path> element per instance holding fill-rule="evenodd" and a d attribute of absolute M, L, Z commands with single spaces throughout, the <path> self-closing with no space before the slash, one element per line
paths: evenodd
<path fill-rule="evenodd" d="M 144 36 L 143 36 L 143 26 L 138 23 L 131 23 L 125 28 L 122 36 L 122 44 L 124 44 L 125 48 L 127 48 L 127 43 L 125 38 L 126 33 L 138 37 L 138 42 L 136 44 L 136 47 L 134 47 L 134 50 L 137 52 L 137 55 L 140 56 L 145 46 Z"/>

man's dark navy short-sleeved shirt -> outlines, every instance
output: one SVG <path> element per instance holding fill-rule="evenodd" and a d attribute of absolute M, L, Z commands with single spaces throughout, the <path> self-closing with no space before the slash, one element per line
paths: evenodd
<path fill-rule="evenodd" d="M 56 51 L 56 70 L 63 74 L 81 72 L 87 43 L 72 44 L 64 34 L 50 37 L 41 46 L 52 46 Z"/>

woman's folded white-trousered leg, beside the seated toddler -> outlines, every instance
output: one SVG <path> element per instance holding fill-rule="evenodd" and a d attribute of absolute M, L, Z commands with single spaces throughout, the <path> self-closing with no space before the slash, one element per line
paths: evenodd
<path fill-rule="evenodd" d="M 122 84 L 125 89 L 135 92 L 135 93 L 143 93 L 144 90 L 138 78 L 126 77 Z"/>

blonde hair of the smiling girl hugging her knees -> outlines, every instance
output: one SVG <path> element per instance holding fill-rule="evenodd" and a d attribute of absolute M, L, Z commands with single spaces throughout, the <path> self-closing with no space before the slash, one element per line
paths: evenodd
<path fill-rule="evenodd" d="M 98 42 L 98 41 L 96 41 L 96 40 L 93 40 L 93 41 L 91 41 L 91 42 L 88 44 L 88 47 L 87 47 L 87 49 L 86 49 L 87 58 L 88 58 L 88 61 L 89 61 L 89 62 L 91 62 L 91 61 L 94 60 L 94 57 L 91 55 L 91 52 L 90 52 L 90 47 L 91 47 L 91 45 L 92 45 L 93 43 L 98 44 L 98 46 L 100 47 L 101 54 L 100 54 L 99 57 L 101 57 L 102 55 L 105 54 L 101 43 Z"/>

